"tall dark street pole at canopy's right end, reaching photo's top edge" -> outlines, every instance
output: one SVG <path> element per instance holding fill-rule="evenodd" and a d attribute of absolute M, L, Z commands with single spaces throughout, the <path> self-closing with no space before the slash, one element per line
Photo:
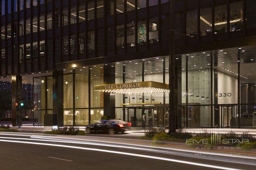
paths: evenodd
<path fill-rule="evenodd" d="M 169 56 L 169 134 L 176 132 L 175 66 L 174 66 L 174 0 L 170 1 L 170 56 Z"/>

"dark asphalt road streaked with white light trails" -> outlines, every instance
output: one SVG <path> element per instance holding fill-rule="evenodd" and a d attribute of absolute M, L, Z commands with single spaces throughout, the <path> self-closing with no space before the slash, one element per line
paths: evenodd
<path fill-rule="evenodd" d="M 255 170 L 256 157 L 111 142 L 106 137 L 0 133 L 0 170 Z"/>

